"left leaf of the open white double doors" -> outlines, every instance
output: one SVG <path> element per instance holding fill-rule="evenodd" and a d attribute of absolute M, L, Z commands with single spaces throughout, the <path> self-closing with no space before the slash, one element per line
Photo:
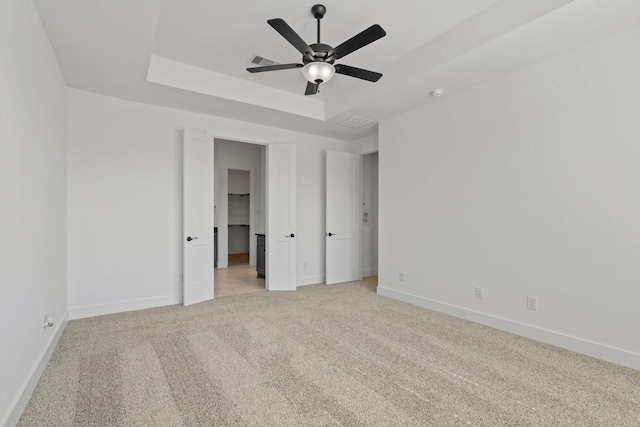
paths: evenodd
<path fill-rule="evenodd" d="M 213 136 L 184 130 L 183 302 L 213 299 Z"/>

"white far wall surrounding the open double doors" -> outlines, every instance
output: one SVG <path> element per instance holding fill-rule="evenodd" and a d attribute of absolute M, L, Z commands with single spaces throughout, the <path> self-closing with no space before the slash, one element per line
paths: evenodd
<path fill-rule="evenodd" d="M 324 280 L 325 151 L 352 144 L 75 89 L 68 96 L 72 317 L 181 301 L 185 127 L 296 144 L 298 282 Z"/>

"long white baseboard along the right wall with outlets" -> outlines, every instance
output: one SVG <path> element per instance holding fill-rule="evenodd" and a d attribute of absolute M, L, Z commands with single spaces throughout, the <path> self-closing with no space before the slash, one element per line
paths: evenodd
<path fill-rule="evenodd" d="M 628 368 L 640 370 L 640 354 L 633 353 L 605 344 L 585 340 L 560 332 L 550 331 L 548 329 L 538 328 L 536 326 L 527 325 L 509 319 L 504 319 L 490 314 L 480 313 L 478 311 L 469 310 L 468 308 L 459 307 L 429 298 L 411 295 L 405 292 L 378 286 L 378 294 L 404 301 L 409 304 L 428 308 L 440 313 L 449 314 L 471 322 L 480 323 L 481 325 L 490 326 L 502 331 L 511 332 L 536 341 L 561 347 L 566 350 L 582 353 L 596 359 L 606 360 L 607 362 L 626 366 Z"/>

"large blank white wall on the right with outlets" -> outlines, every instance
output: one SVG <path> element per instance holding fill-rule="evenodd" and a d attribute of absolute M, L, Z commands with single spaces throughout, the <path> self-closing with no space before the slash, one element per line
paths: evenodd
<path fill-rule="evenodd" d="M 381 123 L 380 293 L 640 369 L 639 45 Z"/>

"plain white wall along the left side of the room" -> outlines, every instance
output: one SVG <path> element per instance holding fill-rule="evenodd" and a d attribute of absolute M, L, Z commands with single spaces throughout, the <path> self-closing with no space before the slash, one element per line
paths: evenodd
<path fill-rule="evenodd" d="M 32 2 L 0 2 L 0 425 L 17 421 L 66 324 L 66 115 Z"/>

